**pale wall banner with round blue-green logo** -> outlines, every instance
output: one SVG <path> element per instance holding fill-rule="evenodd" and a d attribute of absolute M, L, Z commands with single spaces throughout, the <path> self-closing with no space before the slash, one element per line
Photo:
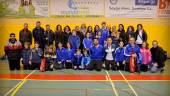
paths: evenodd
<path fill-rule="evenodd" d="M 50 0 L 52 16 L 104 16 L 104 0 Z"/>

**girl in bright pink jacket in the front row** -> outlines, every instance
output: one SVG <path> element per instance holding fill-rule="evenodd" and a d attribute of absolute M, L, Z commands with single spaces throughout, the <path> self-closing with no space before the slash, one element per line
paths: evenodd
<path fill-rule="evenodd" d="M 147 71 L 148 67 L 151 63 L 151 52 L 150 49 L 148 48 L 149 44 L 147 42 L 142 43 L 142 48 L 140 49 L 141 55 L 142 55 L 142 65 L 141 65 L 141 70 L 142 71 Z"/>

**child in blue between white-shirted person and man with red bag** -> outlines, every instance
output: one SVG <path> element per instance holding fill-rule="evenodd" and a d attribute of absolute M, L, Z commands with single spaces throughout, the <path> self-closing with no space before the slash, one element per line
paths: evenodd
<path fill-rule="evenodd" d="M 115 55 L 116 55 L 115 61 L 118 66 L 118 70 L 123 70 L 124 65 L 125 65 L 125 55 L 124 55 L 125 49 L 124 49 L 123 45 L 124 45 L 123 41 L 120 41 L 119 47 L 115 51 Z"/>

